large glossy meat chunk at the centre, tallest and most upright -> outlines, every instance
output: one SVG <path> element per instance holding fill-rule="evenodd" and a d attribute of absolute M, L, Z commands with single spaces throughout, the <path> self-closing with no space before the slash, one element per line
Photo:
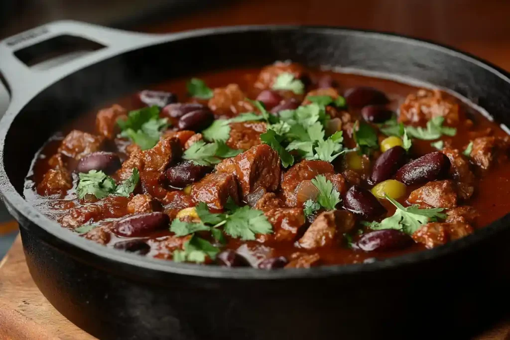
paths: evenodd
<path fill-rule="evenodd" d="M 267 144 L 256 145 L 234 157 L 243 197 L 258 188 L 275 191 L 280 182 L 278 152 Z"/>

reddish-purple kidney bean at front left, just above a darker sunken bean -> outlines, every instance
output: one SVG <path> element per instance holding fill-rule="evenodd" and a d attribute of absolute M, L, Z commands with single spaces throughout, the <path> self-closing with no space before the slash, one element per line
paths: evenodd
<path fill-rule="evenodd" d="M 117 222 L 113 231 L 119 236 L 142 237 L 152 231 L 168 228 L 169 224 L 168 215 L 160 212 L 138 214 Z"/>

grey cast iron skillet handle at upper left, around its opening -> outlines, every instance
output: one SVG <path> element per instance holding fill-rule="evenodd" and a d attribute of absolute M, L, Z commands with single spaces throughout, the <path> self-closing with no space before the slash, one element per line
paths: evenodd
<path fill-rule="evenodd" d="M 54 60 L 53 63 L 41 63 L 32 67 L 24 64 L 16 56 L 17 51 L 26 47 L 66 35 L 80 37 L 105 47 L 87 54 L 74 55 L 72 58 L 67 56 L 67 58 L 59 58 L 57 62 Z M 63 20 L 50 22 L 2 40 L 0 41 L 0 74 L 4 77 L 11 94 L 11 107 L 15 103 L 26 103 L 48 85 L 85 66 L 118 55 L 123 51 L 154 44 L 164 40 L 165 37 L 168 39 L 168 35 L 127 32 L 85 22 Z"/>

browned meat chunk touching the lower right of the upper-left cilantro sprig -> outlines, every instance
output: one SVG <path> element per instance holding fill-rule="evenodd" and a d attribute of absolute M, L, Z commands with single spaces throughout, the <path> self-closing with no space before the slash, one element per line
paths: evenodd
<path fill-rule="evenodd" d="M 181 159 L 183 148 L 179 139 L 170 137 L 162 139 L 153 148 L 142 151 L 144 170 L 163 171 L 169 164 Z"/>

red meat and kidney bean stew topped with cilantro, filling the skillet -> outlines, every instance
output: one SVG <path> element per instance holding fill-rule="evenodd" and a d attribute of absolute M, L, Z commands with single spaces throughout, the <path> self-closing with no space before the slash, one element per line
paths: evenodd
<path fill-rule="evenodd" d="M 82 115 L 25 198 L 82 237 L 228 267 L 364 263 L 510 212 L 510 138 L 451 93 L 276 62 L 172 80 Z"/>

